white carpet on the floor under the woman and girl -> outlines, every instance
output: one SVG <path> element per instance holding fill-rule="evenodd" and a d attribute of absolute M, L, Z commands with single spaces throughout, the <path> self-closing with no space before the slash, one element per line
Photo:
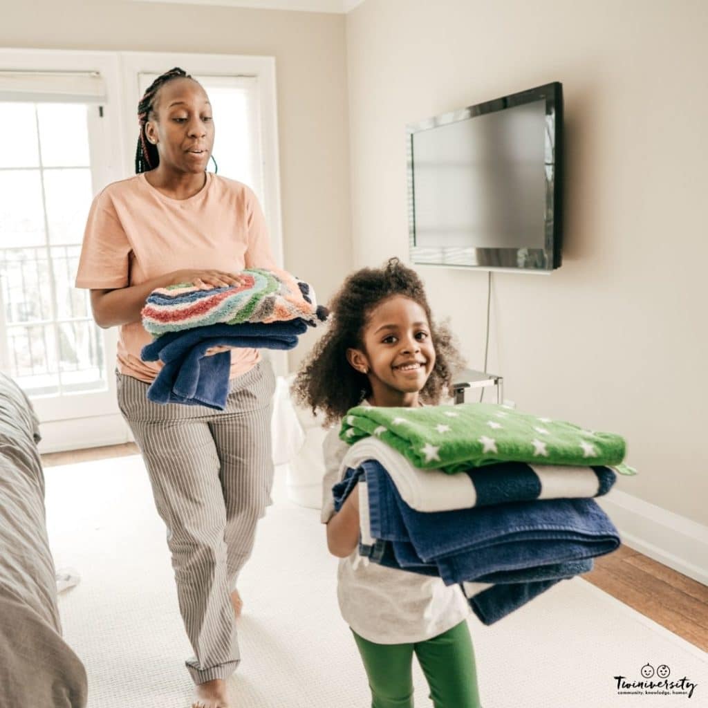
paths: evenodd
<path fill-rule="evenodd" d="M 86 665 L 89 708 L 184 708 L 190 654 L 178 612 L 164 526 L 138 456 L 49 467 L 47 523 L 58 567 L 81 583 L 59 596 L 64 636 Z M 338 614 L 336 559 L 319 513 L 285 498 L 259 528 L 241 578 L 243 661 L 238 708 L 366 708 L 365 673 Z M 618 695 L 617 681 L 665 664 L 697 684 L 708 705 L 708 657 L 580 578 L 564 581 L 492 627 L 469 620 L 485 708 L 642 708 L 685 695 Z M 416 707 L 430 707 L 416 666 Z"/>

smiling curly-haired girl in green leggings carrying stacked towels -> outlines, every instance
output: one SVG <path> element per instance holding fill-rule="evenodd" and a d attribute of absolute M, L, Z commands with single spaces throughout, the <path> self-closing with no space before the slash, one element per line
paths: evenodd
<path fill-rule="evenodd" d="M 437 404 L 459 355 L 450 333 L 435 326 L 418 275 L 392 258 L 384 268 L 350 275 L 331 303 L 329 331 L 314 347 L 293 390 L 327 423 L 357 405 Z M 413 706 L 413 654 L 435 708 L 479 708 L 467 601 L 457 586 L 365 562 L 358 556 L 359 495 L 334 513 L 332 486 L 348 445 L 339 427 L 324 442 L 322 521 L 341 558 L 338 599 L 364 662 L 372 708 Z"/>

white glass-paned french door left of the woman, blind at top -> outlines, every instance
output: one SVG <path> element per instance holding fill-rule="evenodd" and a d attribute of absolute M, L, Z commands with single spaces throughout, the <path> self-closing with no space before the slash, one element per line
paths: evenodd
<path fill-rule="evenodd" d="M 0 52 L 0 368 L 30 396 L 42 451 L 127 439 L 116 333 L 74 288 L 91 200 L 122 177 L 117 62 L 91 63 Z"/>

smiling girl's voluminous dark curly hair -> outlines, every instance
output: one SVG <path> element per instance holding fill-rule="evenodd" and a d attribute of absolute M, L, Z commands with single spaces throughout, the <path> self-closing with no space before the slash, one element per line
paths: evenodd
<path fill-rule="evenodd" d="M 362 268 L 352 273 L 329 303 L 329 330 L 315 344 L 302 362 L 292 384 L 292 393 L 312 413 L 324 413 L 325 424 L 335 423 L 353 406 L 371 394 L 369 379 L 347 360 L 349 348 L 363 348 L 363 332 L 372 309 L 394 295 L 404 295 L 417 302 L 430 324 L 435 348 L 435 367 L 421 390 L 421 399 L 437 404 L 443 391 L 449 392 L 453 372 L 463 365 L 452 333 L 445 325 L 436 325 L 423 282 L 415 270 L 398 258 L 390 258 L 383 268 Z"/>

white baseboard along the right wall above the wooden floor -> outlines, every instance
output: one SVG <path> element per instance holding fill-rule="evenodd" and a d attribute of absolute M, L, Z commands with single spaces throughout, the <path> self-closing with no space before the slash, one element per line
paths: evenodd
<path fill-rule="evenodd" d="M 708 586 L 708 526 L 618 489 L 596 501 L 627 546 Z"/>

